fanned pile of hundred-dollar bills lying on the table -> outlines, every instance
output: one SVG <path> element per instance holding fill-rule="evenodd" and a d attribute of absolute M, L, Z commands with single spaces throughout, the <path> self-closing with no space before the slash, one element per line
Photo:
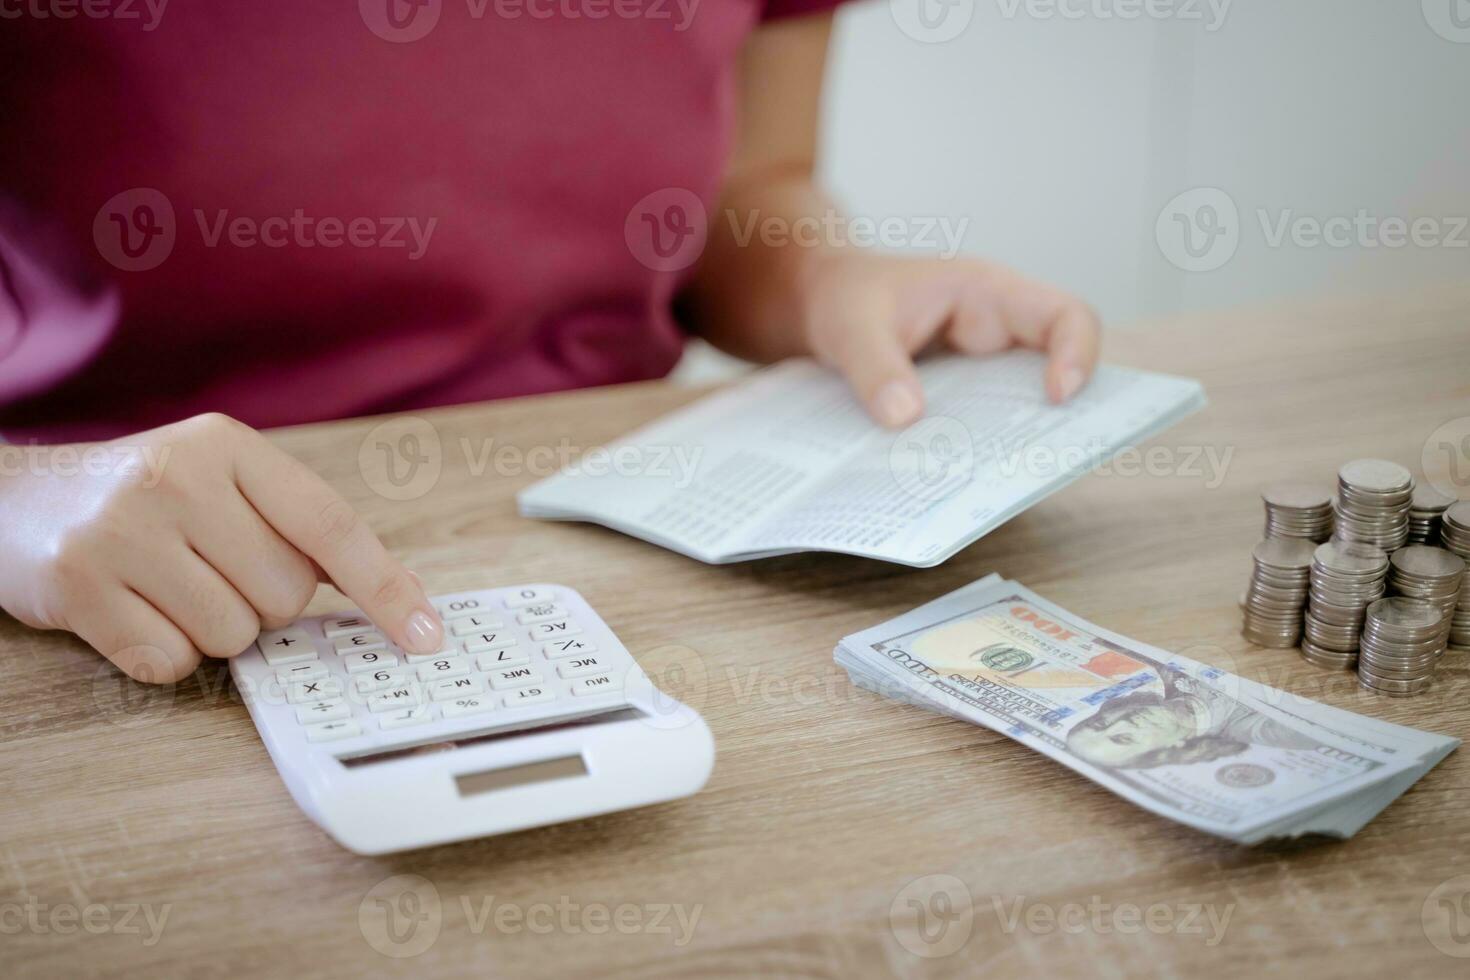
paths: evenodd
<path fill-rule="evenodd" d="M 845 638 L 853 683 L 1239 843 L 1348 837 L 1460 745 L 1110 633 L 989 576 Z"/>

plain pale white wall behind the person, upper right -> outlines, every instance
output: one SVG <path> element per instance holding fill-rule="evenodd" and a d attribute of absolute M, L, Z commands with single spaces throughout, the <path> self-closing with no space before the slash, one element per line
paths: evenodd
<path fill-rule="evenodd" d="M 826 97 L 850 215 L 967 219 L 966 253 L 1108 325 L 1470 278 L 1470 0 L 861 0 Z M 1169 207 L 1194 188 L 1214 190 Z M 1198 203 L 1223 234 L 1186 270 L 1175 215 L 1204 245 Z M 1261 212 L 1351 244 L 1273 244 Z M 1383 219 L 1433 244 L 1370 244 Z M 679 376 L 729 369 L 709 354 Z"/>

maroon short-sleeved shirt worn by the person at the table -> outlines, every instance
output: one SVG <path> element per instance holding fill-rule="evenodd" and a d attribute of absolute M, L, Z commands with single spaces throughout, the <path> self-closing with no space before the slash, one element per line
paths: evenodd
<path fill-rule="evenodd" d="M 18 7 L 0 21 L 0 433 L 663 375 L 741 43 L 835 1 Z"/>

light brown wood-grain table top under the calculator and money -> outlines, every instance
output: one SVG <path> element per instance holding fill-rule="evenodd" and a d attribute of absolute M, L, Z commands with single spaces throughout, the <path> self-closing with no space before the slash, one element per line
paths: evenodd
<path fill-rule="evenodd" d="M 1263 483 L 1330 485 L 1361 455 L 1419 470 L 1470 416 L 1470 288 L 1122 329 L 1107 357 L 1197 376 L 1211 404 L 1148 444 L 1151 472 L 1091 475 L 932 570 L 709 567 L 516 514 L 547 454 L 516 450 L 597 445 L 697 395 L 666 383 L 425 413 L 442 472 L 410 501 L 372 489 L 370 453 L 360 467 L 381 420 L 275 433 L 431 592 L 579 588 L 709 720 L 713 777 L 639 811 L 354 857 L 287 795 L 225 670 L 144 689 L 0 617 L 0 974 L 1466 976 L 1470 751 L 1352 840 L 1241 848 L 833 667 L 842 635 L 1000 572 L 1141 641 L 1470 736 L 1470 661 L 1376 698 L 1250 646 L 1236 608 Z M 323 591 L 313 611 L 341 607 Z M 392 936 L 378 899 L 404 915 Z M 908 899 L 936 915 L 926 937 Z"/>

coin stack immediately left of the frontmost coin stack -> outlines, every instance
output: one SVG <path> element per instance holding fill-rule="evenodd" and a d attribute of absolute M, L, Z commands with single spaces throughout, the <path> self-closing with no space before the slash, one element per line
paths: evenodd
<path fill-rule="evenodd" d="M 1358 660 L 1363 616 L 1383 597 L 1388 555 L 1374 545 L 1329 541 L 1311 555 L 1311 592 L 1301 655 L 1319 667 L 1347 670 Z"/>

